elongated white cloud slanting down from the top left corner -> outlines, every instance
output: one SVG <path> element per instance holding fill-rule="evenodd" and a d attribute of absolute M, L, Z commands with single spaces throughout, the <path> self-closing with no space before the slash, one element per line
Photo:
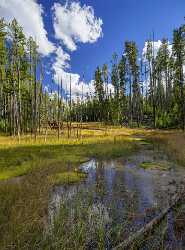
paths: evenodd
<path fill-rule="evenodd" d="M 47 38 L 47 31 L 43 23 L 43 8 L 36 0 L 1 0 L 0 16 L 7 22 L 16 18 L 23 27 L 27 37 L 32 36 L 39 45 L 39 52 L 49 55 L 54 51 L 54 45 Z"/>

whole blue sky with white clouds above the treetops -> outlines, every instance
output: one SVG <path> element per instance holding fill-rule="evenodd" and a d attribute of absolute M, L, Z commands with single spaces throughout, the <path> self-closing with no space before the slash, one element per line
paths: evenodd
<path fill-rule="evenodd" d="M 45 84 L 56 89 L 63 79 L 73 94 L 93 92 L 97 65 L 121 55 L 123 42 L 135 40 L 142 51 L 145 40 L 172 38 L 184 22 L 184 0 L 1 0 L 0 16 L 15 17 L 27 36 L 33 36 L 43 56 Z M 156 42 L 156 46 L 160 44 Z M 83 77 L 84 76 L 84 77 Z"/>

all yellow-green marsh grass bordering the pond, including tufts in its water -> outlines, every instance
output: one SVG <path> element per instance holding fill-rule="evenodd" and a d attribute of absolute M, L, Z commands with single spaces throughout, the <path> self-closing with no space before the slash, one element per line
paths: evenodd
<path fill-rule="evenodd" d="M 75 131 L 73 132 L 75 134 Z M 86 214 L 89 210 L 83 210 L 83 204 L 78 200 L 73 204 L 76 206 L 77 214 L 70 214 L 74 216 L 70 217 L 70 210 L 63 204 L 63 210 L 54 222 L 52 229 L 54 234 L 46 233 L 48 202 L 53 187 L 58 184 L 72 184 L 86 178 L 86 175 L 78 170 L 80 163 L 91 158 L 128 157 L 136 152 L 140 145 L 147 144 L 146 139 L 165 145 L 165 150 L 173 155 L 174 159 L 181 162 L 181 165 L 185 163 L 182 146 L 185 137 L 177 131 L 154 133 L 152 130 L 84 124 L 80 138 L 74 136 L 69 139 L 67 130 L 60 140 L 53 131 L 48 134 L 47 141 L 42 135 L 37 141 L 30 136 L 24 136 L 19 141 L 18 138 L 2 135 L 0 137 L 0 249 L 61 249 L 62 246 L 68 247 L 67 249 L 74 247 L 83 249 L 86 244 L 85 239 L 89 237 L 83 233 L 87 232 L 89 226 L 84 218 L 90 215 Z M 89 199 L 91 207 L 90 196 Z M 99 212 L 101 214 L 101 209 Z M 72 220 L 75 222 L 77 220 L 78 223 L 71 224 Z M 103 226 L 101 227 L 101 224 L 99 226 L 92 235 L 97 246 L 102 249 L 104 231 L 102 231 Z M 69 236 L 67 228 L 70 230 L 70 242 L 67 241 Z M 118 229 L 118 235 L 119 230 L 121 229 Z M 110 231 L 110 234 L 115 232 Z"/>

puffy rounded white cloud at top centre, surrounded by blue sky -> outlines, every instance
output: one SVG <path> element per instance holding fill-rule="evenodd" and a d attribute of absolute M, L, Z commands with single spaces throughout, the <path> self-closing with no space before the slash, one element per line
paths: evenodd
<path fill-rule="evenodd" d="M 55 36 L 69 50 L 76 50 L 77 42 L 94 43 L 102 36 L 103 22 L 95 17 L 92 7 L 81 7 L 78 2 L 55 3 L 53 10 Z"/>

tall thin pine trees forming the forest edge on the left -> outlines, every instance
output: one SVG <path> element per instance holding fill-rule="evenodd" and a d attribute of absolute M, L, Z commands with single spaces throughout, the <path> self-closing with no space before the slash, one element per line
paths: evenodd
<path fill-rule="evenodd" d="M 32 37 L 25 37 L 14 19 L 0 20 L 0 130 L 10 135 L 31 133 L 56 127 L 63 109 L 59 94 L 43 86 L 42 58 Z M 58 98 L 60 96 L 60 99 Z"/>

